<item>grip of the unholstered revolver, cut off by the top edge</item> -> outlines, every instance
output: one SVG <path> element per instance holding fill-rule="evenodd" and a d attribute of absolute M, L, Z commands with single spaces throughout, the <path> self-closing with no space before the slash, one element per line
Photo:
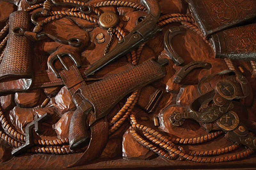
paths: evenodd
<path fill-rule="evenodd" d="M 140 2 L 146 6 L 148 13 L 152 14 L 155 19 L 160 17 L 160 7 L 157 0 L 140 0 Z"/>

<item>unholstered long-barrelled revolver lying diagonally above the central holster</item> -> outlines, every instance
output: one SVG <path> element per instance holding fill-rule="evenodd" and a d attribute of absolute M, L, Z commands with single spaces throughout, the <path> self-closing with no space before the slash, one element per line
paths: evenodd
<path fill-rule="evenodd" d="M 115 59 L 126 54 L 133 48 L 138 47 L 149 38 L 152 38 L 157 30 L 159 30 L 156 22 L 160 17 L 160 8 L 156 0 L 141 0 L 141 3 L 147 7 L 148 15 L 143 21 L 139 22 L 132 31 L 124 37 L 118 44 L 108 52 L 107 55 L 102 57 L 97 62 L 93 63 L 91 67 L 84 72 L 86 76 L 93 74 L 95 71 L 100 70 L 102 67 L 111 63 Z"/>

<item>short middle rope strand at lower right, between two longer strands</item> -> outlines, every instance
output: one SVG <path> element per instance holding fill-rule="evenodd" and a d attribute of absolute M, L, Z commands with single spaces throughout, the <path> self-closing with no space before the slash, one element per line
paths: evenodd
<path fill-rule="evenodd" d="M 227 146 L 225 148 L 220 148 L 216 150 L 210 150 L 210 151 L 190 151 L 189 154 L 192 156 L 216 156 L 216 155 L 221 155 L 225 154 L 228 152 L 232 152 L 237 150 L 239 147 L 238 143 L 232 144 L 230 146 Z"/>

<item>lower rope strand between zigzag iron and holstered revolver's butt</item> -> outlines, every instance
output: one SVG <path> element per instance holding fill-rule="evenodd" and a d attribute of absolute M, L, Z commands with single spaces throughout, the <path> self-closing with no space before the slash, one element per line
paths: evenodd
<path fill-rule="evenodd" d="M 64 146 L 33 146 L 27 150 L 28 153 L 45 153 L 55 155 L 65 155 L 70 153 L 78 153 L 79 151 L 70 150 L 68 145 Z"/>

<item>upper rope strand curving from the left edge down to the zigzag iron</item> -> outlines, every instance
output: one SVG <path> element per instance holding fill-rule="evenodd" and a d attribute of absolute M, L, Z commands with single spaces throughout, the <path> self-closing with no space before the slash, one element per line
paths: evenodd
<path fill-rule="evenodd" d="M 8 123 L 7 119 L 4 117 L 4 114 L 2 111 L 0 111 L 0 121 L 2 124 L 2 127 L 4 131 L 9 135 L 10 137 L 13 137 L 14 139 L 17 139 L 21 142 L 26 142 L 26 136 L 23 134 L 20 134 L 16 130 L 12 128 L 12 126 Z"/>

